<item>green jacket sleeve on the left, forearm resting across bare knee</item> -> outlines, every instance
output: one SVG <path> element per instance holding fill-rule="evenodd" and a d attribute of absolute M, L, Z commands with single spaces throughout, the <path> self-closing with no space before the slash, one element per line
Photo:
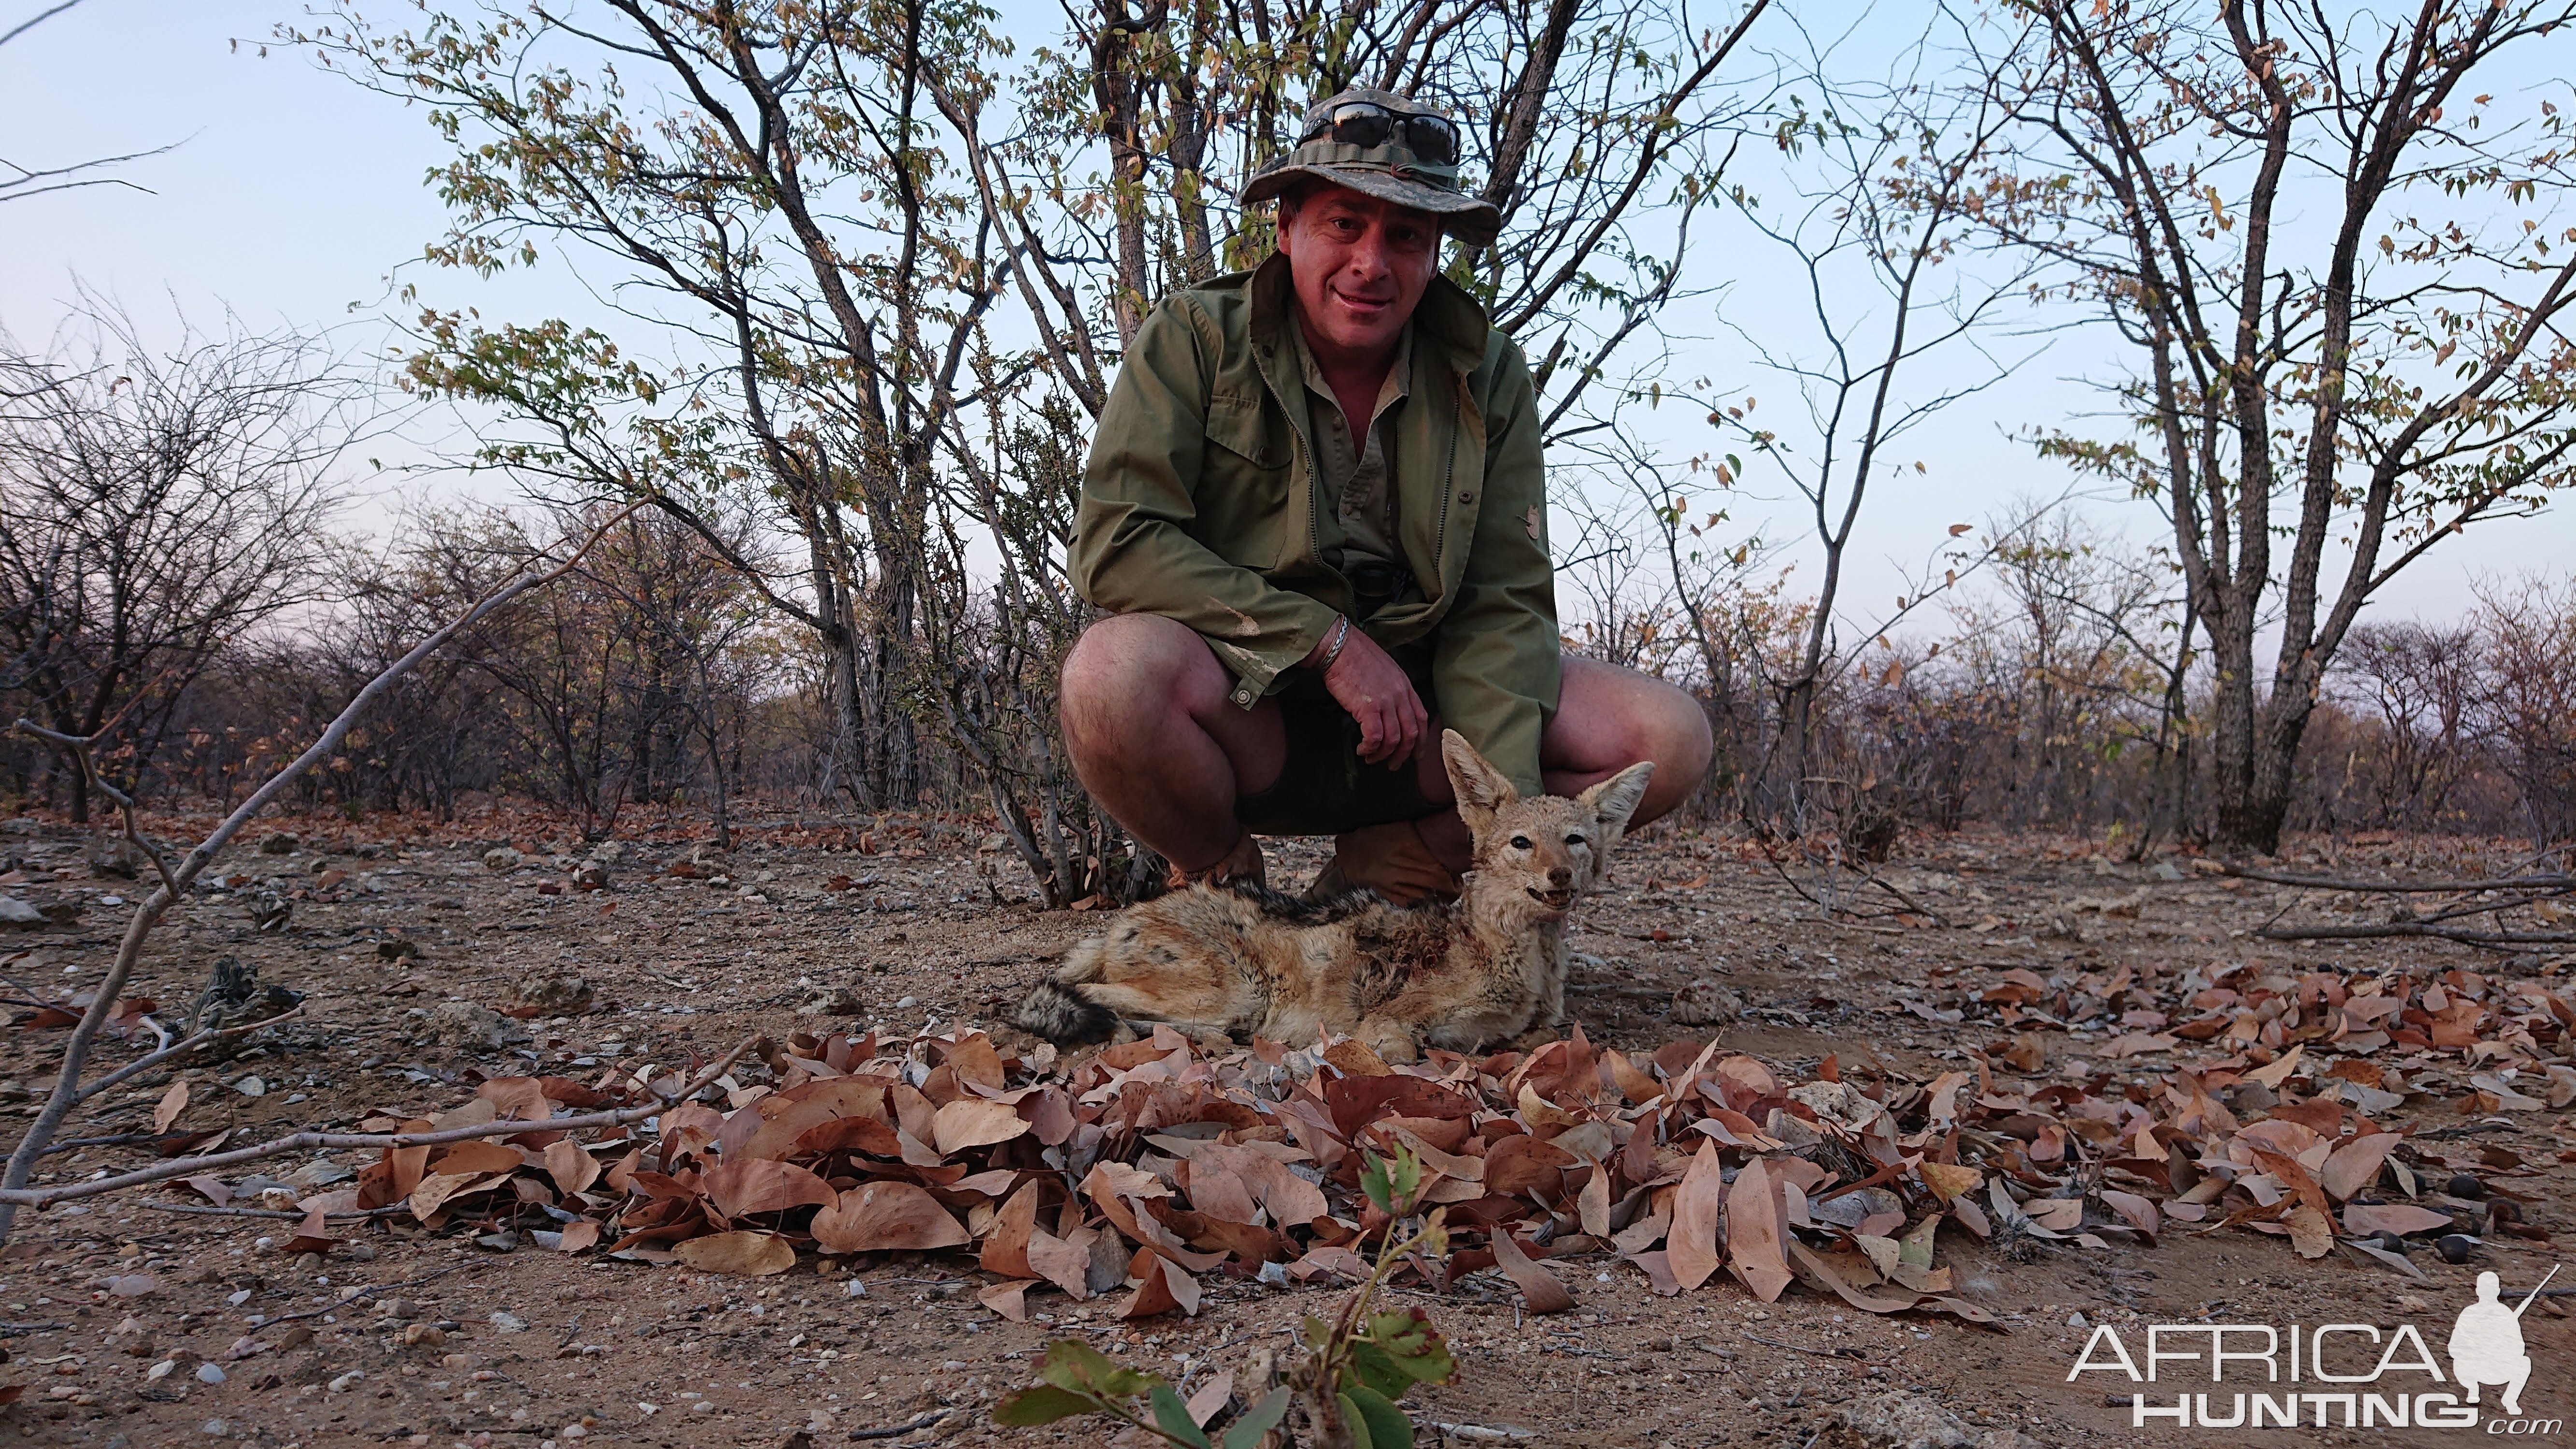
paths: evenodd
<path fill-rule="evenodd" d="M 1208 450 L 1211 347 L 1213 327 L 1198 327 L 1188 299 L 1164 301 L 1136 329 L 1082 468 L 1066 564 L 1092 605 L 1195 628 L 1236 674 L 1234 703 L 1249 708 L 1337 615 L 1190 535 Z"/>

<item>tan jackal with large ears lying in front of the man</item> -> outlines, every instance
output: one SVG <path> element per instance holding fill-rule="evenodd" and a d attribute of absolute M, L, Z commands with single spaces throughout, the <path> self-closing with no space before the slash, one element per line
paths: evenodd
<path fill-rule="evenodd" d="M 1440 762 L 1476 842 L 1458 901 L 1190 885 L 1077 945 L 1012 1024 L 1059 1042 L 1108 1040 L 1126 1022 L 1167 1022 L 1200 1045 L 1340 1032 L 1386 1060 L 1553 1027 L 1566 1004 L 1566 914 L 1602 878 L 1654 764 L 1571 800 L 1522 800 L 1458 731 L 1443 731 Z"/>

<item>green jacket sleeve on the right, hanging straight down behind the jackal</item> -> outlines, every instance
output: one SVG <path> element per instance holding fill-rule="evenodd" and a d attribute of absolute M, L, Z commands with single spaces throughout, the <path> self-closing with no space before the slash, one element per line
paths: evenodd
<path fill-rule="evenodd" d="M 1564 677 L 1556 569 L 1548 564 L 1548 468 L 1520 350 L 1507 347 L 1497 371 L 1484 507 L 1458 602 L 1440 620 L 1432 690 L 1440 723 L 1463 734 L 1515 790 L 1538 795 L 1538 736 L 1556 713 Z"/>

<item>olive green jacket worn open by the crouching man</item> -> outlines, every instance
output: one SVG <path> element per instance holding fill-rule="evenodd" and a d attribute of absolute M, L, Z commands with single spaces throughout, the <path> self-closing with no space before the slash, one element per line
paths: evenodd
<path fill-rule="evenodd" d="M 1084 600 L 1195 628 L 1247 710 L 1352 602 L 1316 548 L 1314 443 L 1288 324 L 1278 255 L 1146 317 L 1100 412 L 1069 556 Z M 1396 520 L 1417 587 L 1378 610 L 1368 636 L 1417 677 L 1427 651 L 1425 703 L 1440 723 L 1538 793 L 1538 731 L 1558 687 L 1538 399 L 1520 347 L 1448 278 L 1432 278 L 1414 311 Z"/>

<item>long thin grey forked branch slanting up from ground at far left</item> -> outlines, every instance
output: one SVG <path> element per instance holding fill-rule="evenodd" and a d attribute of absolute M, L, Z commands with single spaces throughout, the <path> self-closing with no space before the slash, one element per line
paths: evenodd
<path fill-rule="evenodd" d="M 348 708 L 343 708 L 330 721 L 330 726 L 322 731 L 319 739 L 314 739 L 301 754 L 278 767 L 278 772 L 270 775 L 258 790 L 252 790 L 250 798 L 234 806 L 234 811 L 224 816 L 222 824 L 216 824 L 214 831 L 206 834 L 206 839 L 201 839 L 196 849 L 191 849 L 178 867 L 173 867 L 167 857 L 162 857 L 162 852 L 155 849 L 152 842 L 142 836 L 142 829 L 134 821 L 134 798 L 98 775 L 98 759 L 93 749 L 98 736 L 67 736 L 59 731 L 49 731 L 33 721 L 18 721 L 15 728 L 21 734 L 64 746 L 80 764 L 82 777 L 90 780 L 90 785 L 95 785 L 108 800 L 116 800 L 116 811 L 126 826 L 126 842 L 134 844 L 134 849 L 139 849 L 152 862 L 155 875 L 160 875 L 160 885 L 155 885 L 152 893 L 144 896 L 144 901 L 134 909 L 134 919 L 126 921 L 126 934 L 116 945 L 113 965 L 108 965 L 106 978 L 98 983 L 95 996 L 90 999 L 90 1009 L 80 1014 L 80 1024 L 72 1027 L 70 1040 L 62 1045 L 62 1063 L 54 1071 L 52 1096 L 46 1096 L 44 1109 L 36 1114 L 36 1120 L 28 1122 L 26 1135 L 18 1138 L 18 1148 L 10 1150 L 8 1168 L 0 1171 L 0 1243 L 8 1241 L 10 1228 L 15 1228 L 18 1223 L 18 1207 L 26 1204 L 26 1181 L 36 1174 L 36 1163 L 44 1158 L 44 1148 L 62 1130 L 62 1122 L 64 1117 L 72 1114 L 72 1107 L 80 1107 L 82 1102 L 80 1071 L 90 1060 L 90 1045 L 98 1040 L 98 1032 L 106 1029 L 108 1017 L 116 1011 L 116 1001 L 126 988 L 126 978 L 134 975 L 134 963 L 142 960 L 144 939 L 149 939 L 152 929 L 162 921 L 165 914 L 170 914 L 170 906 L 175 906 L 188 893 L 188 885 L 193 885 L 196 878 L 204 875 L 209 865 L 214 865 L 214 857 L 222 854 L 227 844 L 232 844 L 232 836 L 242 834 L 242 829 L 250 826 L 250 821 L 258 818 L 260 811 L 265 811 L 278 795 L 283 795 L 289 785 L 294 785 L 314 764 L 337 754 L 340 744 L 348 739 L 348 731 L 358 726 L 358 718 L 368 708 L 374 708 L 374 703 L 384 697 L 384 692 L 392 690 L 404 674 L 420 667 L 428 656 L 446 649 L 451 638 L 482 623 L 487 615 L 510 605 L 528 589 L 538 589 L 569 574 L 574 566 L 580 566 L 580 561 L 590 553 L 590 548 L 595 548 L 608 535 L 608 530 L 623 522 L 636 507 L 641 504 L 629 504 L 623 512 L 603 522 L 590 538 L 582 540 L 580 548 L 572 551 L 569 558 L 564 558 L 554 569 L 544 574 L 520 571 L 518 577 L 502 582 L 497 589 L 484 595 L 474 607 L 456 615 L 443 628 L 415 643 L 410 654 L 386 664 L 384 672 L 368 679 L 366 687 L 361 687 L 358 695 L 348 703 Z M 116 1076 L 116 1081 L 124 1078 Z"/>

